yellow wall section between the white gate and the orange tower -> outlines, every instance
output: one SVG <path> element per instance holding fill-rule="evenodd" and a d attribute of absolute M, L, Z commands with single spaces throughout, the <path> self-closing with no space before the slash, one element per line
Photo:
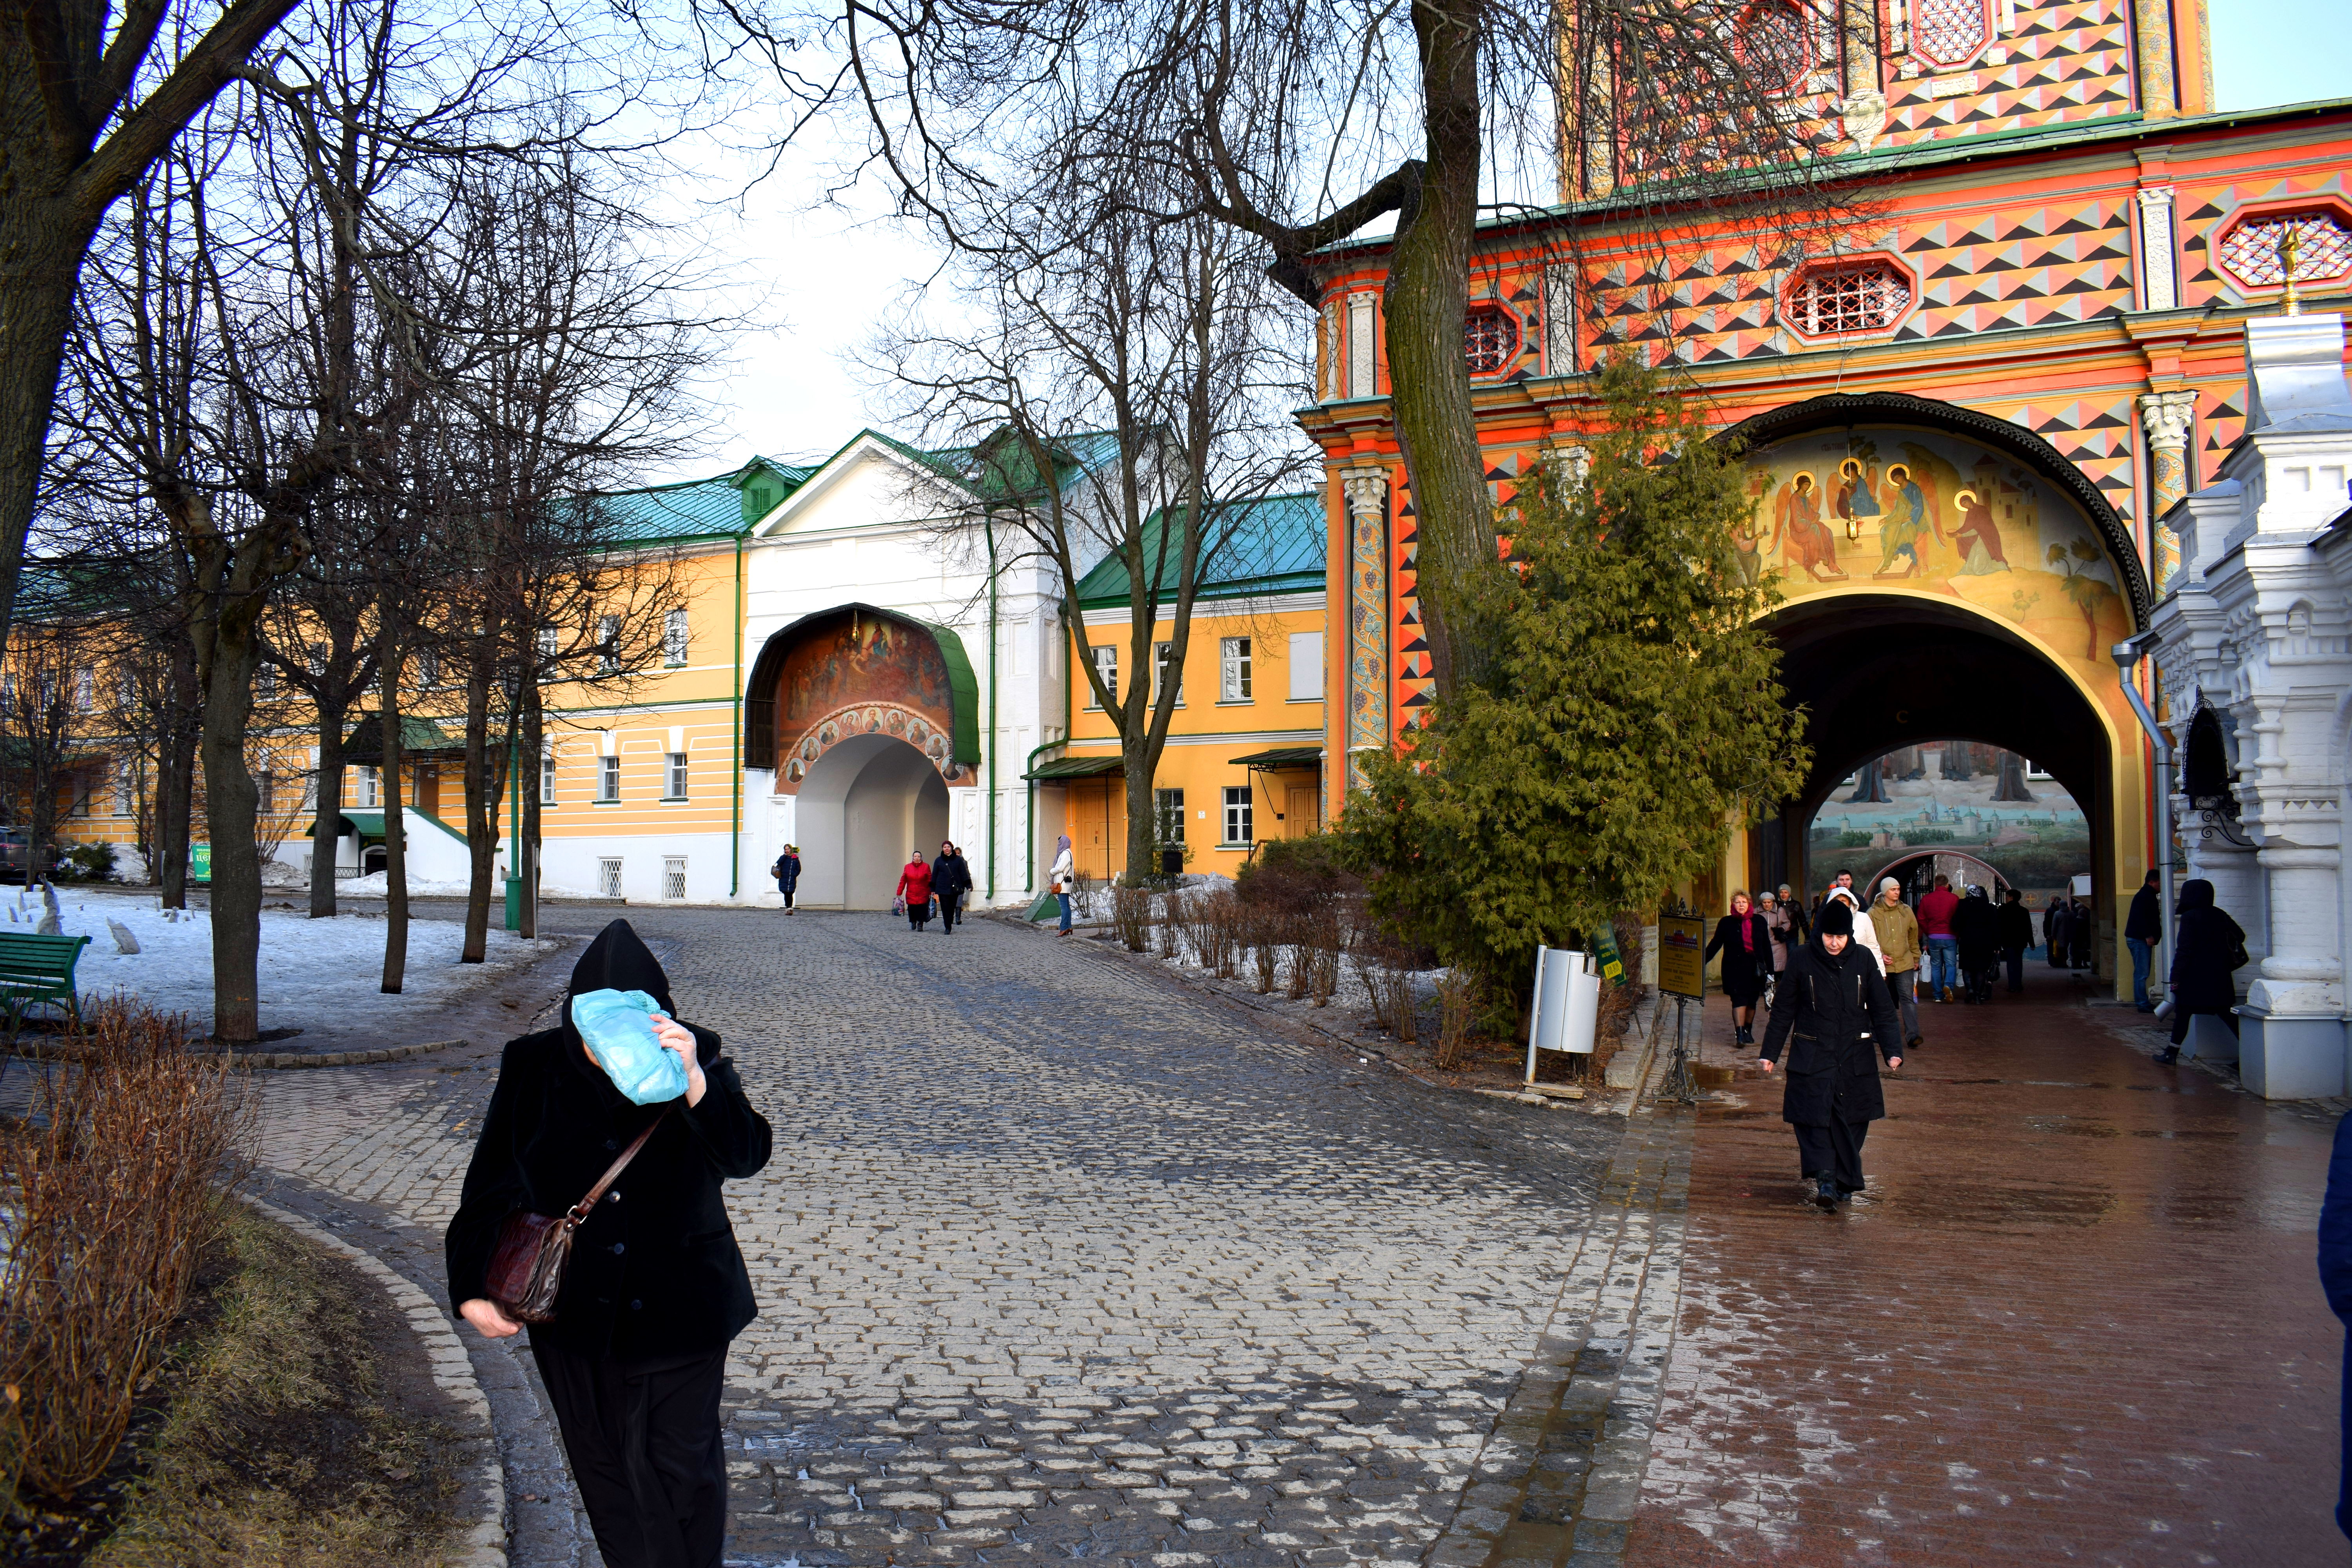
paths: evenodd
<path fill-rule="evenodd" d="M 1169 717 L 1169 741 L 1152 776 L 1155 790 L 1183 790 L 1183 842 L 1190 851 L 1188 872 L 1223 872 L 1232 877 L 1249 860 L 1249 842 L 1225 835 L 1225 790 L 1249 790 L 1251 842 L 1296 839 L 1322 825 L 1322 776 L 1315 762 L 1284 771 L 1251 771 L 1237 757 L 1294 745 L 1324 745 L 1327 686 L 1319 672 L 1308 672 L 1303 691 L 1291 696 L 1291 637 L 1319 639 L 1319 663 L 1329 663 L 1324 607 L 1263 609 L 1263 602 L 1200 602 L 1192 609 L 1192 637 L 1183 661 L 1183 701 Z M 1152 642 L 1169 642 L 1174 623 L 1152 628 Z M 1223 701 L 1223 642 L 1247 637 L 1251 644 L 1249 698 Z M 1084 642 L 1120 649 L 1120 691 L 1131 670 L 1129 630 L 1120 618 L 1084 628 Z M 1084 649 L 1075 658 L 1087 658 Z M 1117 757 L 1120 738 L 1110 715 L 1091 705 L 1084 675 L 1077 682 L 1077 708 L 1070 715 L 1065 757 Z M 1063 832 L 1077 867 L 1096 879 L 1127 872 L 1127 780 L 1117 776 L 1073 778 L 1063 788 Z"/>

